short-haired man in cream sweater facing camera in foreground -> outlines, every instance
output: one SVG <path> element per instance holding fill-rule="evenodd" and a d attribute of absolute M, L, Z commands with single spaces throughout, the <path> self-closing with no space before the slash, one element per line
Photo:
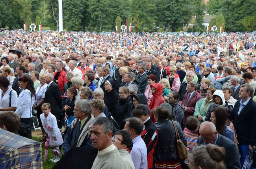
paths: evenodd
<path fill-rule="evenodd" d="M 98 155 L 92 169 L 123 169 L 124 163 L 117 147 L 112 142 L 112 123 L 108 118 L 98 117 L 91 123 L 91 141 Z M 119 139 L 120 140 L 120 139 Z M 121 140 L 120 140 L 121 141 Z M 122 142 L 122 141 L 121 141 Z"/>

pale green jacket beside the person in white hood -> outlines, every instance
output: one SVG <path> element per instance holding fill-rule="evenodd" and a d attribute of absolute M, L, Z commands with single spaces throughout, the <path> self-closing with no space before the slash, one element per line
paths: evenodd
<path fill-rule="evenodd" d="M 209 106 L 213 103 L 213 100 L 207 101 L 206 97 L 200 99 L 196 103 L 194 117 L 197 118 L 198 115 L 203 117 L 203 121 L 205 121 L 206 113 Z"/>

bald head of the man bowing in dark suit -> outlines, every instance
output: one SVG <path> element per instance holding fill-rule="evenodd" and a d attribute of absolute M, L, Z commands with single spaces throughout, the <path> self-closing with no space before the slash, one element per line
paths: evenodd
<path fill-rule="evenodd" d="M 218 134 L 215 125 L 209 121 L 205 121 L 200 125 L 199 133 L 206 144 L 214 144 Z"/>

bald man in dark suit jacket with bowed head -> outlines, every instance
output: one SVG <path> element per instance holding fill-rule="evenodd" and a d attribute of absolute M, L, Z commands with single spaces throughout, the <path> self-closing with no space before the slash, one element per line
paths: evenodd
<path fill-rule="evenodd" d="M 226 152 L 224 162 L 227 169 L 241 169 L 236 144 L 230 139 L 218 134 L 215 125 L 212 122 L 205 121 L 200 125 L 200 136 L 197 140 L 200 144 L 214 144 L 223 147 Z"/>

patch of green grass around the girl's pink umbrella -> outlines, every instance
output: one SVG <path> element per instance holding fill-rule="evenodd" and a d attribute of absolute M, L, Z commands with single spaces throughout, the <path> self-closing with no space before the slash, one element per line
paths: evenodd
<path fill-rule="evenodd" d="M 35 141 L 38 141 L 40 137 L 32 137 L 32 139 Z M 62 149 L 61 149 L 61 153 L 62 153 Z M 54 155 L 52 154 L 52 149 L 49 147 L 48 158 L 47 158 L 47 161 L 45 162 L 45 143 L 42 143 L 42 160 L 43 160 L 44 169 L 51 169 L 56 164 L 49 161 L 51 158 L 54 158 Z"/>

